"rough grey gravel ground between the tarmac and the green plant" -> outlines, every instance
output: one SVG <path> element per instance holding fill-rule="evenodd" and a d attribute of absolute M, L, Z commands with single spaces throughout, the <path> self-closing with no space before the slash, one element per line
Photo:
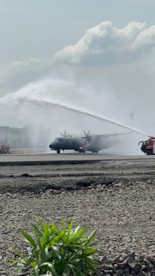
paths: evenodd
<path fill-rule="evenodd" d="M 0 166 L 0 275 L 14 275 L 7 259 L 25 246 L 19 230 L 31 231 L 34 211 L 58 225 L 89 224 L 109 256 L 155 256 L 155 164 Z"/>

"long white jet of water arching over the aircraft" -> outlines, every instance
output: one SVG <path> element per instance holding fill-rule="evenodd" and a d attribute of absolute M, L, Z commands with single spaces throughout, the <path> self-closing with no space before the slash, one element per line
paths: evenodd
<path fill-rule="evenodd" d="M 57 102 L 52 102 L 52 101 L 48 101 L 48 100 L 45 100 L 45 99 L 34 99 L 34 98 L 26 98 L 26 97 L 22 97 L 22 96 L 19 96 L 19 97 L 9 97 L 9 100 L 15 100 L 17 102 L 20 102 L 21 104 L 23 104 L 24 102 L 27 102 L 27 103 L 31 103 L 31 104 L 34 104 L 34 105 L 37 105 L 37 106 L 40 106 L 42 107 L 42 105 L 48 105 L 48 106 L 53 106 L 53 107 L 60 107 L 60 108 L 63 108 L 65 110 L 70 110 L 70 111 L 73 111 L 73 112 L 76 112 L 76 113 L 80 113 L 80 114 L 84 114 L 84 115 L 87 115 L 87 116 L 90 116 L 90 117 L 93 117 L 93 118 L 96 118 L 96 119 L 99 119 L 99 120 L 102 120 L 102 121 L 106 121 L 106 122 L 109 122 L 109 123 L 112 123 L 112 124 L 115 124 L 115 125 L 119 125 L 119 126 L 122 126 L 126 129 L 130 129 L 134 132 L 137 132 L 137 133 L 141 133 L 143 135 L 146 135 L 146 136 L 149 136 L 148 134 L 142 132 L 142 131 L 139 131 L 135 128 L 132 128 L 130 126 L 127 126 L 127 125 L 124 125 L 120 122 L 117 122 L 117 121 L 114 121 L 114 120 L 111 120 L 109 118 L 105 118 L 103 116 L 100 116 L 100 115 L 96 115 L 96 114 L 93 114 L 91 112 L 88 112 L 88 111 L 84 111 L 82 109 L 78 109 L 78 108 L 73 108 L 73 107 L 70 107 L 70 106 L 67 106 L 67 105 L 64 105 L 64 104 L 60 104 L 60 103 L 57 103 Z M 3 100 L 0 100 L 0 104 L 4 104 L 6 103 L 5 101 Z"/>

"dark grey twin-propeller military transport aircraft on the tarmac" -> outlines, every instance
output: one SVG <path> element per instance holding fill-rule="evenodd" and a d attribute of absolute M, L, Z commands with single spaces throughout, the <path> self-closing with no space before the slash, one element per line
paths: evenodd
<path fill-rule="evenodd" d="M 110 134 L 94 134 L 90 135 L 90 129 L 88 133 L 83 129 L 85 136 L 76 137 L 72 135 L 66 135 L 66 129 L 62 137 L 55 138 L 50 144 L 49 147 L 51 150 L 56 150 L 57 153 L 60 153 L 60 150 L 72 149 L 80 153 L 85 153 L 86 151 L 91 151 L 92 153 L 98 153 L 99 150 L 108 148 L 118 142 L 117 136 L 127 133 L 110 133 Z"/>

